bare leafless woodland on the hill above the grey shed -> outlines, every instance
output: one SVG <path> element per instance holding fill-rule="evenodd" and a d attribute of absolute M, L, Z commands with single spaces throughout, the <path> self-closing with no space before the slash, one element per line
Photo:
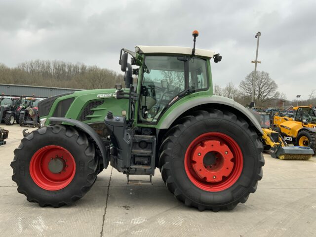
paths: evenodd
<path fill-rule="evenodd" d="M 122 82 L 123 76 L 114 71 L 82 63 L 35 60 L 15 68 L 0 64 L 0 83 L 96 89 Z"/>

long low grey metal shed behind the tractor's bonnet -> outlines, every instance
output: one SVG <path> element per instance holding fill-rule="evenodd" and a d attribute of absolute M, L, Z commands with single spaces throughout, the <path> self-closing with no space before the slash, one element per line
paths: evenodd
<path fill-rule="evenodd" d="M 50 97 L 69 93 L 81 89 L 58 88 L 58 87 L 45 87 L 34 85 L 13 85 L 13 84 L 0 84 L 0 95 L 8 96 L 27 96 L 32 97 Z"/>

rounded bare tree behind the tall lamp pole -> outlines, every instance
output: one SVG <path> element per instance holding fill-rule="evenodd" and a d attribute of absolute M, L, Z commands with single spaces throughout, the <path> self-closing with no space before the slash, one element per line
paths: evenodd
<path fill-rule="evenodd" d="M 251 72 L 239 84 L 242 96 L 251 98 L 254 72 Z M 279 96 L 276 82 L 266 72 L 257 72 L 255 84 L 255 101 L 266 102 Z"/>

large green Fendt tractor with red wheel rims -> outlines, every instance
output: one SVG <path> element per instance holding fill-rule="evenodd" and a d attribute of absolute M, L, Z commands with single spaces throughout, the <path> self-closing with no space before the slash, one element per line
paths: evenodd
<path fill-rule="evenodd" d="M 210 60 L 222 57 L 196 49 L 193 36 L 193 48 L 121 49 L 125 88 L 40 101 L 42 127 L 25 132 L 11 162 L 18 192 L 40 206 L 72 204 L 110 163 L 129 184 L 150 183 L 158 168 L 168 190 L 198 210 L 244 203 L 262 178 L 260 116 L 213 96 Z"/>

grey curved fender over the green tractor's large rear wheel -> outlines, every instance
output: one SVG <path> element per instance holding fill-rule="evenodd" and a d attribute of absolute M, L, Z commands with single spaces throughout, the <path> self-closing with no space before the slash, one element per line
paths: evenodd
<path fill-rule="evenodd" d="M 176 104 L 176 103 L 175 103 Z M 263 135 L 261 125 L 260 125 L 260 115 L 256 114 L 252 110 L 246 109 L 236 101 L 232 99 L 228 99 L 222 96 L 205 96 L 199 97 L 196 99 L 191 99 L 186 101 L 185 103 L 181 103 L 178 105 L 172 106 L 169 110 L 170 113 L 165 113 L 158 122 L 158 129 L 167 129 L 171 126 L 171 124 L 179 118 L 186 111 L 200 106 L 200 105 L 225 105 L 226 107 L 234 108 L 235 110 L 242 113 L 248 120 L 252 123 L 252 125 L 256 128 L 257 132 Z"/>

